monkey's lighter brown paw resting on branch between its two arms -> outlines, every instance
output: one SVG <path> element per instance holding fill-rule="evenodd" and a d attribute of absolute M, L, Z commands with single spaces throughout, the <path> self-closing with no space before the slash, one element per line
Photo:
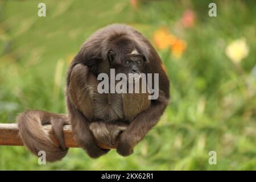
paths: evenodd
<path fill-rule="evenodd" d="M 115 121 L 112 123 L 95 121 L 90 123 L 90 130 L 98 144 L 106 146 L 114 146 L 120 134 L 126 130 L 128 124 L 123 121 Z"/>

